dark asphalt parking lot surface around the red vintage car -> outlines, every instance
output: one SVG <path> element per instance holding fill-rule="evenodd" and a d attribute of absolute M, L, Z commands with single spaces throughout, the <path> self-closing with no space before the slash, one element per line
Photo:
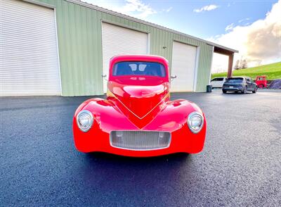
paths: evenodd
<path fill-rule="evenodd" d="M 1 98 L 0 206 L 281 206 L 280 92 L 172 98 L 206 114 L 201 153 L 79 153 L 72 116 L 89 97 Z"/>

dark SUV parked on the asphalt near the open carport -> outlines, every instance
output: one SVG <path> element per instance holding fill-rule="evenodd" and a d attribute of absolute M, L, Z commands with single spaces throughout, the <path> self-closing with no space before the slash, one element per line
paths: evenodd
<path fill-rule="evenodd" d="M 258 87 L 249 77 L 229 77 L 223 84 L 223 94 L 226 92 L 256 93 Z"/>

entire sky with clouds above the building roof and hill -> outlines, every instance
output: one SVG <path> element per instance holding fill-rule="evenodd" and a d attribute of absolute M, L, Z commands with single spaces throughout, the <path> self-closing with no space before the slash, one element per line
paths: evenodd
<path fill-rule="evenodd" d="M 281 61 L 281 0 L 83 1 L 237 49 L 234 64 L 241 58 L 249 67 Z M 228 57 L 214 54 L 212 72 L 227 67 Z"/>

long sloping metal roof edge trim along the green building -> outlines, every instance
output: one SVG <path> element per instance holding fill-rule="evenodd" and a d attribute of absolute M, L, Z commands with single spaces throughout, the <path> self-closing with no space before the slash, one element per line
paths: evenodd
<path fill-rule="evenodd" d="M 73 3 L 73 4 L 79 4 L 81 6 L 85 6 L 85 7 L 88 7 L 88 8 L 93 8 L 93 9 L 95 9 L 97 11 L 101 11 L 101 12 L 104 12 L 104 13 L 109 13 L 111 15 L 116 15 L 116 16 L 121 17 L 121 18 L 126 18 L 127 20 L 131 20 L 131 21 L 134 21 L 136 23 L 142 23 L 144 25 L 149 25 L 151 27 L 156 27 L 156 28 L 158 28 L 160 30 L 166 30 L 167 32 L 173 32 L 174 34 L 177 34 L 177 35 L 183 35 L 185 37 L 196 39 L 196 40 L 198 40 L 200 42 L 204 42 L 204 43 L 209 44 L 211 46 L 217 46 L 217 47 L 219 47 L 221 49 L 226 49 L 228 51 L 232 51 L 233 53 L 238 53 L 239 52 L 239 51 L 237 51 L 235 49 L 230 49 L 230 48 L 228 48 L 226 46 L 222 46 L 222 45 L 216 44 L 214 42 L 209 42 L 209 41 L 207 41 L 205 39 L 201 39 L 199 37 L 194 37 L 192 35 L 187 35 L 187 34 L 185 34 L 183 32 L 178 32 L 176 30 L 172 30 L 172 29 L 169 29 L 167 27 L 163 27 L 161 25 L 157 25 L 157 24 L 154 24 L 154 23 L 150 23 L 150 22 L 147 22 L 145 20 L 141 20 L 141 19 L 138 19 L 138 18 L 133 18 L 133 17 L 131 17 L 129 15 L 125 15 L 123 13 L 118 13 L 116 11 L 111 11 L 111 10 L 109 10 L 107 8 L 103 8 L 103 7 L 100 7 L 100 6 L 93 5 L 93 4 L 89 4 L 89 3 L 86 3 L 86 2 L 81 1 L 81 0 L 65 0 L 65 1 L 69 1 L 70 3 Z"/>

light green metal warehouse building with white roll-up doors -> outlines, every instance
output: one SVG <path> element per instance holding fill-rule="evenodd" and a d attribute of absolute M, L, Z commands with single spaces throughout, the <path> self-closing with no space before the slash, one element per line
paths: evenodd
<path fill-rule="evenodd" d="M 78 0 L 0 0 L 0 96 L 103 94 L 112 56 L 168 59 L 174 92 L 205 92 L 213 53 L 237 51 Z"/>

